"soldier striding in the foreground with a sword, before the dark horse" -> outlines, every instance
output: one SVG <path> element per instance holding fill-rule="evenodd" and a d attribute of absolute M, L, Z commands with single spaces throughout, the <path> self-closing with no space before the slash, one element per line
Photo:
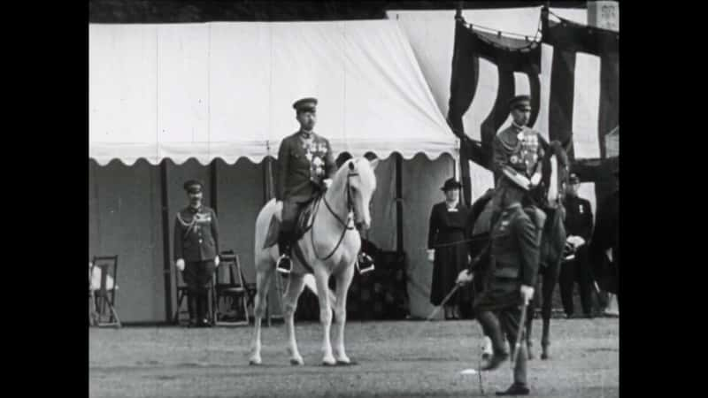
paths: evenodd
<path fill-rule="evenodd" d="M 476 298 L 473 305 L 484 334 L 491 338 L 494 350 L 482 371 L 494 370 L 509 358 L 504 334 L 513 350 L 519 328 L 523 327 L 520 325 L 521 309 L 534 297 L 538 274 L 538 230 L 521 206 L 528 193 L 529 181 L 510 169 L 504 169 L 502 179 L 509 182 L 501 197 L 502 212 L 492 227 L 489 250 L 481 255 L 489 255 L 492 275 L 489 278 L 489 288 Z M 460 272 L 458 283 L 471 281 L 472 272 L 480 263 L 473 262 L 469 269 Z M 511 387 L 496 394 L 529 394 L 526 344 L 519 347 L 513 379 Z"/>

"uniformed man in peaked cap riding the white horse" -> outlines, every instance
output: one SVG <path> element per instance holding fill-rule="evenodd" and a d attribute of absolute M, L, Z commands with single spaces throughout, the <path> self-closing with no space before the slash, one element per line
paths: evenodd
<path fill-rule="evenodd" d="M 292 267 L 289 255 L 297 216 L 307 203 L 329 187 L 336 172 L 329 142 L 312 130 L 317 121 L 317 99 L 303 98 L 293 103 L 293 108 L 300 129 L 281 142 L 275 193 L 275 198 L 282 201 L 278 271 L 284 273 L 289 273 Z"/>

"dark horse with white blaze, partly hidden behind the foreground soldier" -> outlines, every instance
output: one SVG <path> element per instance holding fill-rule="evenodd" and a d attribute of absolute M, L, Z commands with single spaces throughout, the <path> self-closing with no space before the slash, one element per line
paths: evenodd
<path fill-rule="evenodd" d="M 555 161 L 554 161 L 555 155 Z M 558 167 L 555 167 L 558 165 Z M 540 243 L 540 258 L 539 258 L 539 278 L 536 282 L 534 300 L 529 304 L 531 309 L 541 307 L 541 318 L 543 319 L 543 335 L 541 338 L 542 359 L 549 357 L 550 345 L 550 311 L 552 305 L 553 290 L 558 284 L 558 275 L 560 274 L 560 263 L 563 259 L 563 249 L 566 245 L 566 228 L 563 225 L 566 217 L 563 209 L 562 197 L 563 188 L 567 178 L 567 157 L 566 152 L 558 144 L 550 145 L 550 151 L 543 159 L 543 179 L 544 183 L 539 187 L 540 194 L 545 200 L 535 202 L 539 203 L 540 208 L 546 214 L 546 220 L 543 224 L 543 232 L 541 234 Z M 551 186 L 556 185 L 550 181 L 558 181 L 558 188 Z M 538 192 L 538 191 L 537 191 Z M 489 246 L 489 231 L 491 225 L 489 218 L 491 216 L 492 201 L 494 190 L 490 189 L 486 194 L 482 195 L 472 205 L 470 216 L 471 242 L 470 256 L 473 258 L 480 256 L 482 251 Z M 489 275 L 489 256 L 480 256 L 480 264 L 478 273 L 475 275 L 473 287 L 477 294 L 481 292 L 485 285 L 485 279 Z M 526 320 L 526 343 L 528 348 L 528 356 L 532 357 L 531 348 L 531 330 L 533 325 L 533 314 L 535 311 L 530 311 Z"/>

